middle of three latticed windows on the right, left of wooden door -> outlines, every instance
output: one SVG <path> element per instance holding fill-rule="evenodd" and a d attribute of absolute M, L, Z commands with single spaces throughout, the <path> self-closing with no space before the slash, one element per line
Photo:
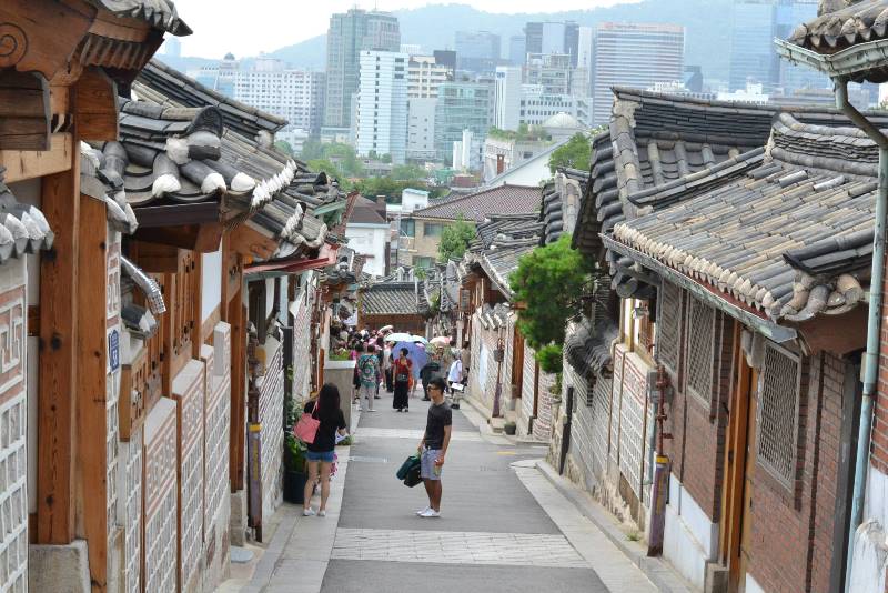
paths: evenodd
<path fill-rule="evenodd" d="M 686 391 L 709 410 L 713 400 L 715 309 L 690 299 L 687 309 Z"/>

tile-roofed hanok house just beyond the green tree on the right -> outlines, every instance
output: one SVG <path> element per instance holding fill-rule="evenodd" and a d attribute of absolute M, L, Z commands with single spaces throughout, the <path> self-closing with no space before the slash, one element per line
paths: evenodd
<path fill-rule="evenodd" d="M 467 295 L 461 309 L 466 311 L 463 334 L 471 349 L 468 398 L 488 419 L 514 421 L 517 434 L 548 440 L 555 376 L 541 371 L 517 329 L 521 303 L 509 283 L 521 258 L 539 243 L 543 224 L 537 218 L 492 214 L 477 225 L 477 241 L 464 259 L 461 282 Z"/>

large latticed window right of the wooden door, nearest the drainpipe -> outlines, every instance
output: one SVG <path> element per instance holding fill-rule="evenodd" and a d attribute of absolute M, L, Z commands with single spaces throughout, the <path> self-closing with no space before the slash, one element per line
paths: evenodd
<path fill-rule="evenodd" d="M 766 342 L 756 411 L 758 463 L 790 490 L 796 479 L 800 383 L 799 356 Z"/>

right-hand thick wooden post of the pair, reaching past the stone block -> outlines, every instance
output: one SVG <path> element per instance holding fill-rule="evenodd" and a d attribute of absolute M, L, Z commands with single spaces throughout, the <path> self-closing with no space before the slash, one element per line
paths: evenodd
<path fill-rule="evenodd" d="M 77 535 L 89 546 L 93 592 L 108 584 L 107 319 L 104 203 L 80 198 L 78 251 Z M 101 229 L 102 232 L 97 232 Z"/>

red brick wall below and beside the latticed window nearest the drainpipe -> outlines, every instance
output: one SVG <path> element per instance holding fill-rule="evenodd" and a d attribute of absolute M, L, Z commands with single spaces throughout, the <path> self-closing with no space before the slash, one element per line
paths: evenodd
<path fill-rule="evenodd" d="M 803 364 L 794 488 L 755 468 L 749 572 L 766 591 L 829 591 L 844 374 L 829 354 Z"/>

